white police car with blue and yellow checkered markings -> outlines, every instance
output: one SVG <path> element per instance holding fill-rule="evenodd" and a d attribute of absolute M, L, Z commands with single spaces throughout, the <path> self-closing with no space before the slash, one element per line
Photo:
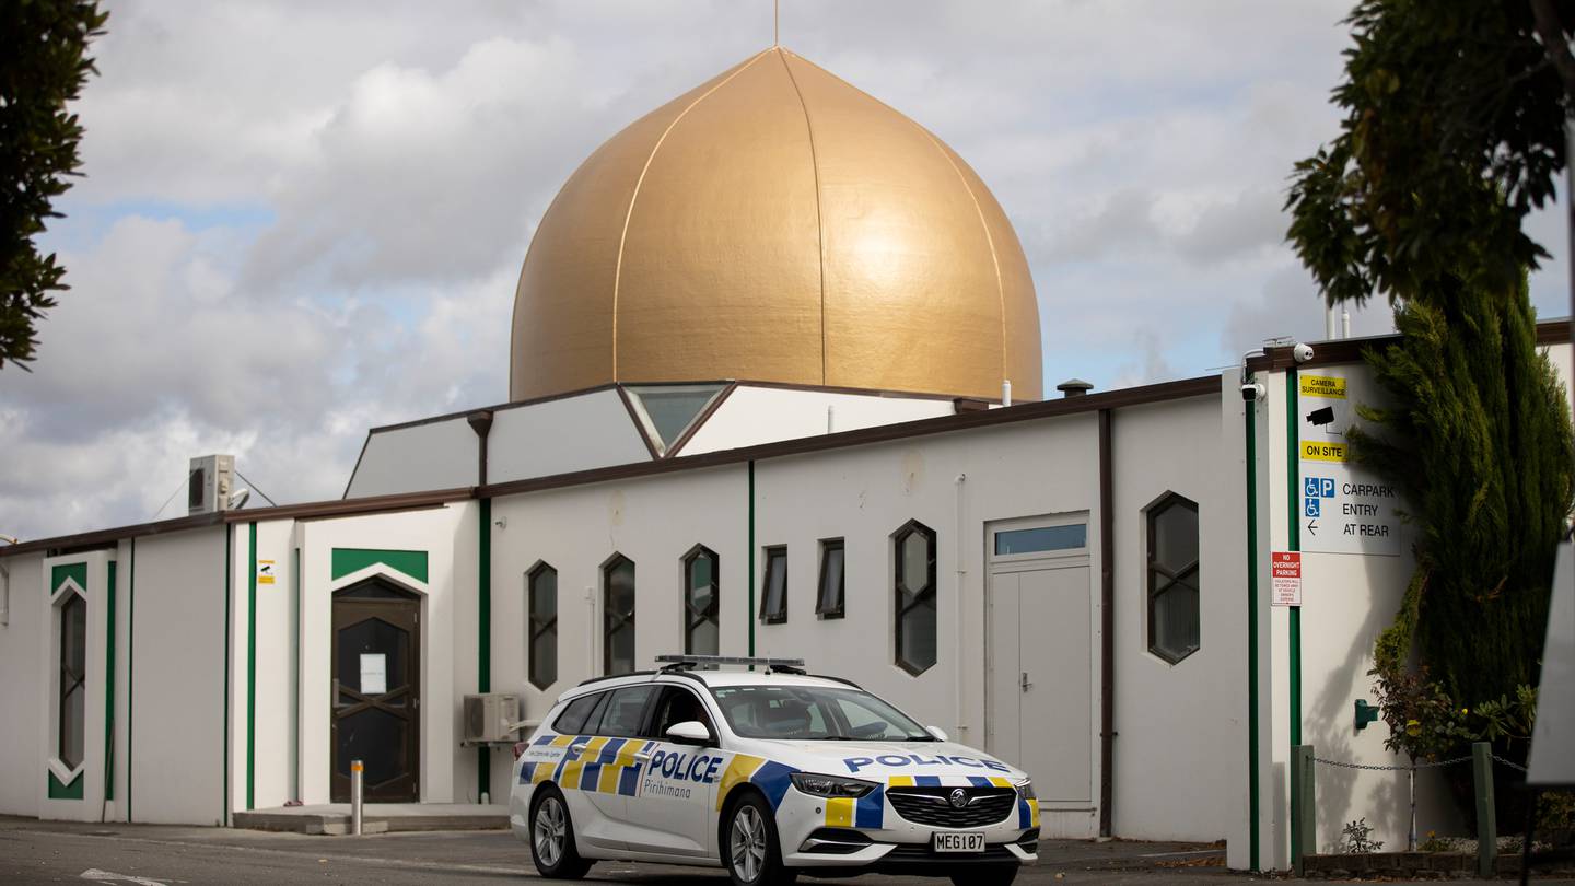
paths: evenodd
<path fill-rule="evenodd" d="M 721 866 L 740 886 L 876 870 L 1005 886 L 1038 859 L 1021 769 L 799 659 L 657 661 L 565 692 L 515 747 L 509 823 L 543 877 L 627 859 Z M 734 664 L 761 670 L 720 670 Z"/>

